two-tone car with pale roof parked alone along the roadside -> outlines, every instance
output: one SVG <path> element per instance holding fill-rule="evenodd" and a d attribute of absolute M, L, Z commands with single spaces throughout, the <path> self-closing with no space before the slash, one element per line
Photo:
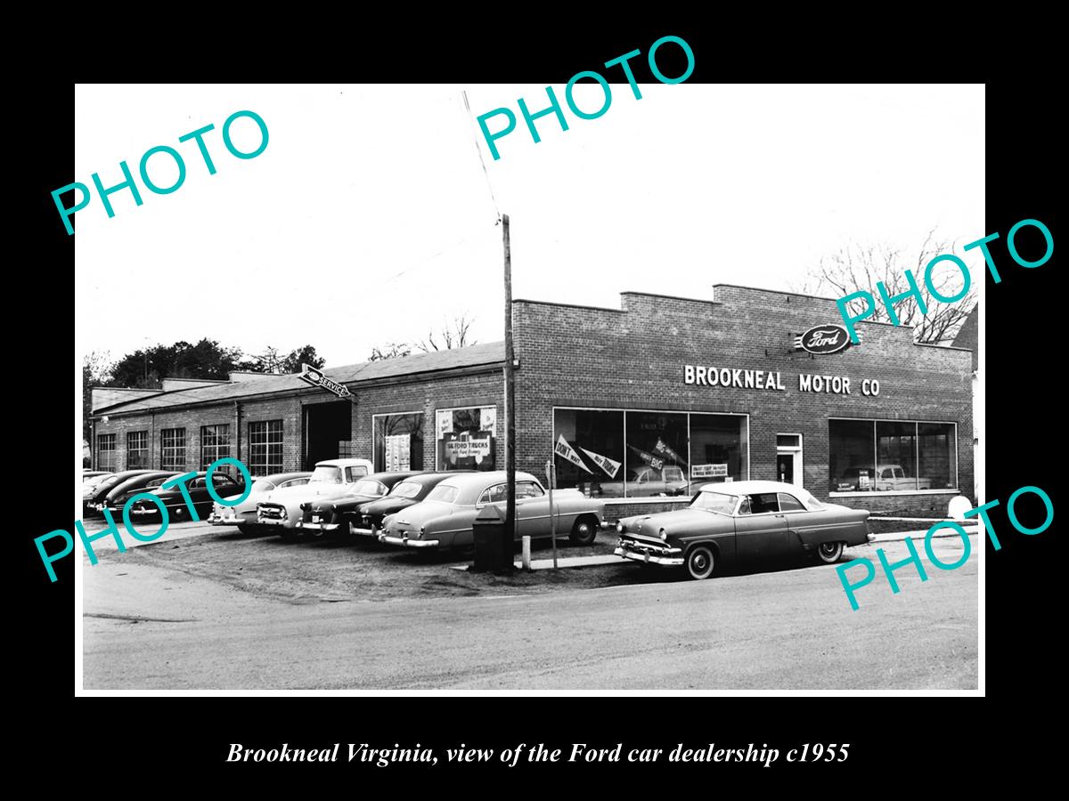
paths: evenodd
<path fill-rule="evenodd" d="M 616 554 L 644 564 L 683 566 L 708 579 L 719 566 L 795 553 L 825 564 L 871 540 L 869 513 L 818 501 L 793 484 L 702 485 L 686 508 L 620 520 Z"/>

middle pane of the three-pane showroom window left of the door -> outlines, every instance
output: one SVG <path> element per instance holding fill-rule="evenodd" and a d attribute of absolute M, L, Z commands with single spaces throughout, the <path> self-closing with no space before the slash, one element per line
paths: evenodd
<path fill-rule="evenodd" d="M 625 498 L 685 496 L 686 414 L 628 412 Z"/>

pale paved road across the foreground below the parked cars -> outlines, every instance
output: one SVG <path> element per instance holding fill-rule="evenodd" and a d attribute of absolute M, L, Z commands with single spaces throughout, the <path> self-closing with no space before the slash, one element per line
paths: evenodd
<path fill-rule="evenodd" d="M 851 611 L 832 567 L 510 597 L 293 603 L 175 570 L 84 572 L 84 688 L 918 689 L 977 686 L 977 556 L 880 576 Z M 892 561 L 903 544 L 885 544 Z M 952 562 L 960 540 L 938 540 Z M 854 549 L 874 561 L 871 546 Z M 924 551 L 921 550 L 921 553 Z M 622 564 L 589 570 L 641 570 Z M 857 568 L 859 571 L 859 568 Z"/>

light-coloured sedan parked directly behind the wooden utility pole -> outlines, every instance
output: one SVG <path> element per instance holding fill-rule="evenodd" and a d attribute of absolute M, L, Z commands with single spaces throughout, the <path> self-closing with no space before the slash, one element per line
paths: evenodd
<path fill-rule="evenodd" d="M 464 548 L 474 544 L 471 523 L 489 504 L 506 505 L 503 470 L 452 475 L 432 489 L 424 501 L 387 516 L 379 543 L 405 548 Z M 594 541 L 605 504 L 577 489 L 553 492 L 558 536 L 577 545 Z M 530 473 L 516 472 L 516 539 L 548 537 L 549 499 Z"/>

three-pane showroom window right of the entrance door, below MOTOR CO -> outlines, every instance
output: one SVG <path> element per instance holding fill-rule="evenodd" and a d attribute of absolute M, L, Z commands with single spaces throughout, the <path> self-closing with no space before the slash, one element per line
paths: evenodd
<path fill-rule="evenodd" d="M 830 420 L 832 492 L 956 489 L 957 426 L 890 420 Z"/>

